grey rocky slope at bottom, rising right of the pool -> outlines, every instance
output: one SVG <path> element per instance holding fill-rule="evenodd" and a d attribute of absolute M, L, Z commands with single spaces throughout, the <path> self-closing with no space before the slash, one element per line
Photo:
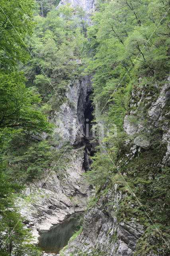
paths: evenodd
<path fill-rule="evenodd" d="M 101 194 L 105 189 L 106 187 Z M 84 252 L 88 252 L 90 256 L 132 256 L 144 229 L 136 219 L 126 223 L 117 221 L 114 213 L 123 197 L 117 190 L 117 185 L 105 196 L 101 195 L 95 206 L 84 216 L 82 234 L 68 244 L 68 252 L 74 252 L 75 256 Z"/>

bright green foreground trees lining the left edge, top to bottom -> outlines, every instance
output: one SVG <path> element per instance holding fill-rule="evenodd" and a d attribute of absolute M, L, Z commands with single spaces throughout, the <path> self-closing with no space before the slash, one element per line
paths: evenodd
<path fill-rule="evenodd" d="M 0 3 L 0 146 L 4 146 L 7 137 L 21 130 L 34 134 L 52 132 L 53 125 L 36 110 L 41 98 L 25 88 L 24 74 L 17 70 L 18 61 L 26 63 L 29 59 L 24 40 L 33 32 L 33 6 L 33 0 L 2 0 Z M 3 148 L 1 152 L 4 153 Z M 31 236 L 14 205 L 14 192 L 21 186 L 10 182 L 5 169 L 6 165 L 1 163 L 0 255 L 38 256 L 41 254 L 38 249 L 27 246 Z"/>

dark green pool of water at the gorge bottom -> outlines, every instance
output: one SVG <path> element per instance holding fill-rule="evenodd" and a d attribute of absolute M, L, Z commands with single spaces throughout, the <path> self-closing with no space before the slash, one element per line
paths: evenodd
<path fill-rule="evenodd" d="M 47 253 L 59 253 L 67 245 L 68 240 L 74 232 L 80 228 L 79 220 L 81 215 L 72 214 L 51 230 L 41 232 L 37 246 Z"/>

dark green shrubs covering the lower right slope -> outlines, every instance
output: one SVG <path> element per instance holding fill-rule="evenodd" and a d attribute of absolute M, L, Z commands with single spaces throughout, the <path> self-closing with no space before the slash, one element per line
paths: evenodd
<path fill-rule="evenodd" d="M 125 157 L 125 153 L 128 152 L 128 149 L 126 150 L 123 152 L 124 159 L 120 151 L 117 159 L 121 159 L 119 171 L 123 176 L 112 174 L 110 177 L 112 184 L 117 184 L 117 189 L 126 193 L 126 197 L 119 202 L 116 216 L 119 222 L 128 222 L 135 218 L 144 225 L 146 231 L 138 241 L 136 254 L 147 255 L 149 250 L 156 251 L 157 248 L 161 248 L 160 255 L 165 255 L 167 246 L 162 237 L 166 241 L 169 239 L 170 168 L 162 168 L 160 162 L 166 152 L 166 145 L 161 144 L 152 150 L 143 150 L 131 160 Z"/>

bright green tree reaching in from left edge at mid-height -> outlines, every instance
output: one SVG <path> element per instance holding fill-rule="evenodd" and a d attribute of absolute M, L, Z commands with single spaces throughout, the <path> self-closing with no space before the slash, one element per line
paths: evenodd
<path fill-rule="evenodd" d="M 0 74 L 0 129 L 22 128 L 29 132 L 51 133 L 52 124 L 34 104 L 41 101 L 39 95 L 25 88 L 22 72 Z"/>

